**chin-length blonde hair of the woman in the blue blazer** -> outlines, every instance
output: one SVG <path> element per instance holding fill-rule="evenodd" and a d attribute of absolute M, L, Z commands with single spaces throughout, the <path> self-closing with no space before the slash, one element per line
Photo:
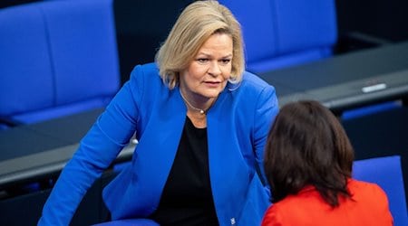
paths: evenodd
<path fill-rule="evenodd" d="M 218 1 L 196 1 L 188 5 L 156 53 L 161 79 L 173 89 L 179 84 L 180 71 L 189 66 L 199 48 L 214 33 L 227 33 L 233 42 L 230 81 L 238 83 L 245 71 L 241 27 L 235 16 Z"/>

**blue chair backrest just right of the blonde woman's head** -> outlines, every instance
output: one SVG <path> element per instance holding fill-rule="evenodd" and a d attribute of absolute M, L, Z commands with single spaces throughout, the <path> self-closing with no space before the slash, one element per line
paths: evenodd
<path fill-rule="evenodd" d="M 334 0 L 219 0 L 242 26 L 248 71 L 263 72 L 332 55 Z"/>

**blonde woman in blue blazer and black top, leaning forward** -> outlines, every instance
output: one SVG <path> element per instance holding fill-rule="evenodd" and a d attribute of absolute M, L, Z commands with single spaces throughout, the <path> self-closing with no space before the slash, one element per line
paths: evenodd
<path fill-rule="evenodd" d="M 131 164 L 103 190 L 112 221 L 259 225 L 269 205 L 263 151 L 278 105 L 275 89 L 245 71 L 243 50 L 228 8 L 188 5 L 156 61 L 135 67 L 83 137 L 39 225 L 68 225 L 133 134 Z"/>

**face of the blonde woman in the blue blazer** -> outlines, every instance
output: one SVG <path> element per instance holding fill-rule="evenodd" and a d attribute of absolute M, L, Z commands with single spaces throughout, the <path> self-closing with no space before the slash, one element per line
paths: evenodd
<path fill-rule="evenodd" d="M 232 68 L 232 38 L 215 33 L 180 73 L 180 88 L 191 100 L 214 99 L 226 87 Z"/>

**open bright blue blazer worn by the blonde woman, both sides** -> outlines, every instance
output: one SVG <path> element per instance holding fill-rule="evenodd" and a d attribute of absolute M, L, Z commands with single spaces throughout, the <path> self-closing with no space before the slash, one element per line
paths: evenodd
<path fill-rule="evenodd" d="M 260 225 L 269 193 L 259 175 L 265 178 L 263 151 L 277 111 L 275 89 L 249 72 L 242 82 L 228 83 L 209 109 L 209 177 L 220 225 Z M 170 90 L 156 64 L 135 67 L 64 167 L 39 224 L 67 225 L 135 132 L 131 165 L 106 186 L 103 200 L 112 220 L 149 216 L 160 202 L 186 113 L 179 87 Z"/>

